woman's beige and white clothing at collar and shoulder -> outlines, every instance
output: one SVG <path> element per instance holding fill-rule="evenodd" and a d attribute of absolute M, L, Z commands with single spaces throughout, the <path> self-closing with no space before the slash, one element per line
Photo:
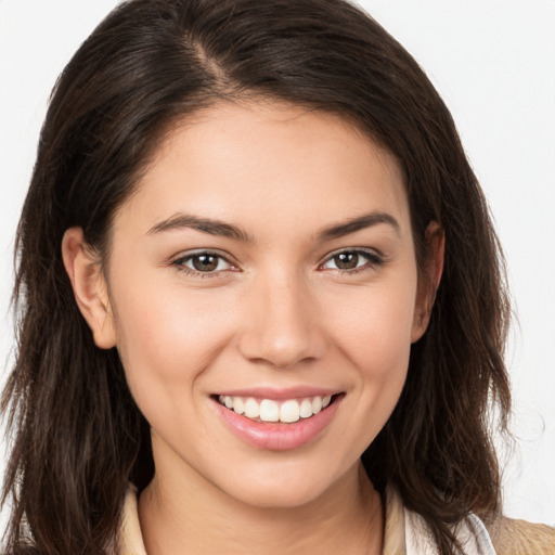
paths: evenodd
<path fill-rule="evenodd" d="M 457 528 L 464 555 L 555 555 L 555 529 L 524 520 L 499 518 L 486 525 L 475 515 Z M 436 555 L 423 517 L 403 507 L 400 495 L 386 491 L 383 555 Z M 146 555 L 139 525 L 137 494 L 127 492 L 118 555 Z"/>

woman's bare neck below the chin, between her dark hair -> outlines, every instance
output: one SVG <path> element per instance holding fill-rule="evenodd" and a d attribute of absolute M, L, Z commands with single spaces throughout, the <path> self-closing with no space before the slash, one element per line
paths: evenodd
<path fill-rule="evenodd" d="M 317 499 L 293 507 L 248 505 L 184 478 L 156 476 L 140 496 L 149 555 L 382 553 L 382 502 L 360 463 Z"/>

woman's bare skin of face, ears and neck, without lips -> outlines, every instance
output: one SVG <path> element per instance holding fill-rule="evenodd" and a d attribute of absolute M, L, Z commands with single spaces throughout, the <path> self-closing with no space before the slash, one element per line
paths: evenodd
<path fill-rule="evenodd" d="M 244 237 L 179 225 L 183 214 Z M 387 221 L 322 236 L 369 214 Z M 437 224 L 426 238 L 418 280 L 390 154 L 334 116 L 261 102 L 217 104 L 168 134 L 116 215 L 107 268 L 80 229 L 66 232 L 77 302 L 96 345 L 117 346 L 152 426 L 156 475 L 139 503 L 149 554 L 380 553 L 383 507 L 359 457 L 427 325 Z M 215 271 L 194 273 L 198 249 L 222 257 Z M 339 251 L 361 249 L 338 268 Z M 212 397 L 298 386 L 340 402 L 314 439 L 282 451 L 230 431 Z"/>

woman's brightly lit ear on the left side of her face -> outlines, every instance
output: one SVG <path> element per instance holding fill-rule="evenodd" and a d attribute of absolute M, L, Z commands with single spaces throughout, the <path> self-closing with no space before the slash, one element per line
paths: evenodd
<path fill-rule="evenodd" d="M 101 349 L 116 345 L 116 331 L 102 264 L 85 242 L 81 228 L 69 228 L 62 240 L 65 270 L 75 300 Z"/>

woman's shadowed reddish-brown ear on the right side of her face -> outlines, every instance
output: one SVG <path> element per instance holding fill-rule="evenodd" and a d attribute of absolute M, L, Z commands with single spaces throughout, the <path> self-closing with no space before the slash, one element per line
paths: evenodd
<path fill-rule="evenodd" d="M 431 221 L 424 235 L 426 259 L 418 275 L 418 289 L 414 307 L 412 343 L 417 341 L 428 327 L 429 317 L 436 300 L 436 292 L 443 272 L 446 235 L 437 221 Z"/>

